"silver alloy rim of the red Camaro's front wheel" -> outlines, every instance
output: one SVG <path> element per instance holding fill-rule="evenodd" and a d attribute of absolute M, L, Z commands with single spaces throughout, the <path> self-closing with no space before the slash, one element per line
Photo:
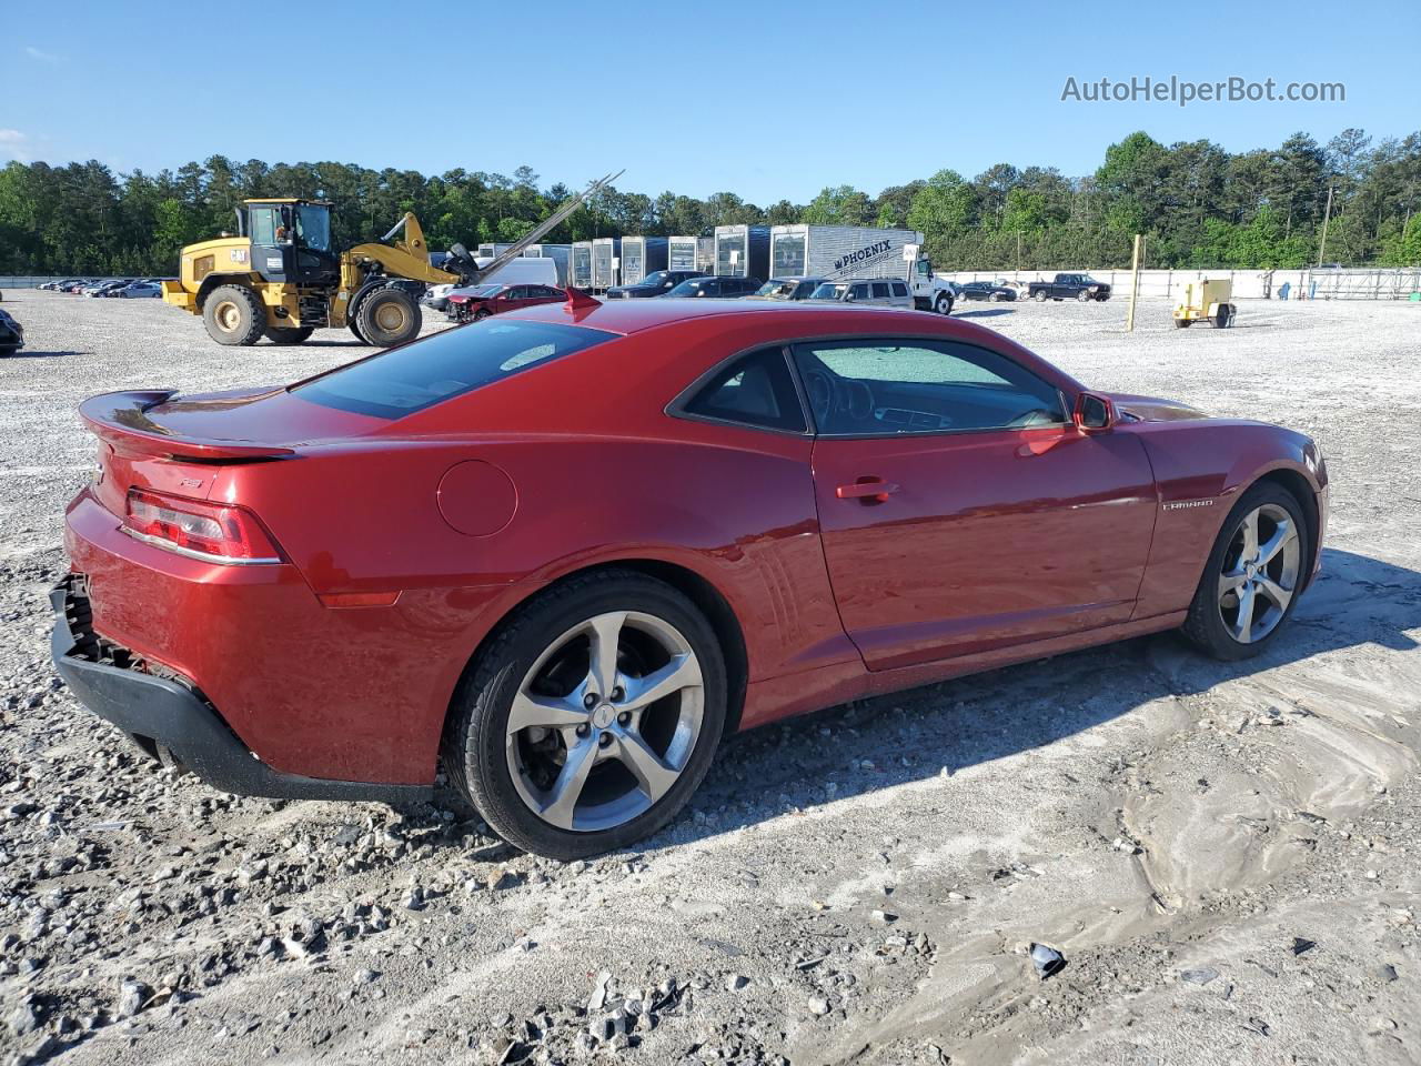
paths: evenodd
<path fill-rule="evenodd" d="M 1276 503 L 1248 512 L 1223 553 L 1218 608 L 1239 644 L 1268 637 L 1297 591 L 1302 542 L 1293 516 Z"/>

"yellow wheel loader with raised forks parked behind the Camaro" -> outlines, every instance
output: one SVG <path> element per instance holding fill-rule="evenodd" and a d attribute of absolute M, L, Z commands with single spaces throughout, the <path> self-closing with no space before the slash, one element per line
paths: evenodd
<path fill-rule="evenodd" d="M 202 316 L 217 344 L 256 344 L 261 337 L 300 344 L 314 330 L 344 325 L 361 341 L 388 348 L 419 335 L 426 284 L 476 284 L 492 276 L 620 176 L 593 182 L 482 267 L 462 244 L 449 249 L 442 267 L 433 266 L 412 213 L 379 242 L 335 252 L 330 203 L 243 200 L 234 236 L 182 250 L 179 280 L 163 281 L 163 300 Z"/>

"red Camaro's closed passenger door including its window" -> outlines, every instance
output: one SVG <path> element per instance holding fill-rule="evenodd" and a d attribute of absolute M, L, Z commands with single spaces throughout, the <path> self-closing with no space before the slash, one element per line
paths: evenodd
<path fill-rule="evenodd" d="M 1077 429 L 1050 382 L 983 347 L 793 354 L 834 597 L 870 669 L 1131 617 L 1155 520 L 1135 435 Z"/>

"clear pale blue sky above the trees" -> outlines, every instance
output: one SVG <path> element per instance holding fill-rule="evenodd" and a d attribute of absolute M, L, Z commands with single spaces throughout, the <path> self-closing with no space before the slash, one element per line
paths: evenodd
<path fill-rule="evenodd" d="M 1421 4 L 11 0 L 0 161 L 512 173 L 756 203 L 949 166 L 1090 172 L 1113 141 L 1229 151 L 1421 128 Z M 1370 7 L 1370 10 L 1368 10 Z M 1189 37 L 1179 37 L 1179 30 Z M 1334 81 L 1346 102 L 1063 102 L 1077 82 Z"/>

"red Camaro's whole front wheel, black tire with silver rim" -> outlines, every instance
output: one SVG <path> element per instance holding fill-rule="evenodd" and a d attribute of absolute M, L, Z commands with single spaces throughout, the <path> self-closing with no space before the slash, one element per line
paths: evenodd
<path fill-rule="evenodd" d="M 1184 634 L 1216 659 L 1262 652 L 1297 605 L 1312 560 L 1297 497 L 1272 482 L 1243 493 L 1219 530 Z"/>

